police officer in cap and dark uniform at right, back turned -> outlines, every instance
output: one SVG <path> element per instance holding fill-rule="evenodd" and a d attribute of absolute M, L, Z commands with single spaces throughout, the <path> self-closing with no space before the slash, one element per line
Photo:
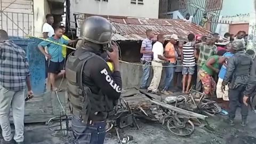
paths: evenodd
<path fill-rule="evenodd" d="M 223 79 L 221 90 L 225 91 L 225 85 L 229 83 L 229 122 L 234 126 L 234 118 L 237 107 L 241 106 L 242 126 L 246 126 L 248 115 L 248 107 L 243 103 L 243 96 L 246 84 L 250 79 L 250 68 L 252 66 L 252 57 L 244 52 L 245 45 L 243 40 L 236 39 L 232 43 L 232 48 L 235 51 L 233 57 L 228 60 L 227 73 Z"/>

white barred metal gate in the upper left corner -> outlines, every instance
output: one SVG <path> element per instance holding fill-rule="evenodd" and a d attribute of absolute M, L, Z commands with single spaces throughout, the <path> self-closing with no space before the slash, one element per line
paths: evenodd
<path fill-rule="evenodd" d="M 9 36 L 34 35 L 33 0 L 0 0 L 0 27 Z"/>

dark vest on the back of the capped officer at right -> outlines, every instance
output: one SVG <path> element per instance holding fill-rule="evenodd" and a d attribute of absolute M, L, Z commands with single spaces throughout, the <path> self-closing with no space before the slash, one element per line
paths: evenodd
<path fill-rule="evenodd" d="M 250 74 L 252 66 L 252 58 L 247 54 L 238 54 L 237 57 L 238 65 L 234 71 L 234 76 L 244 76 Z"/>

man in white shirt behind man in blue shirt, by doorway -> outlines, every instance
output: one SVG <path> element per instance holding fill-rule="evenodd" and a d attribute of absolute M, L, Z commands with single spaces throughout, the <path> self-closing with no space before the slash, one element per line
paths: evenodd
<path fill-rule="evenodd" d="M 43 37 L 51 37 L 54 35 L 54 29 L 52 27 L 52 24 L 54 22 L 52 14 L 46 14 L 46 22 L 43 25 Z"/>

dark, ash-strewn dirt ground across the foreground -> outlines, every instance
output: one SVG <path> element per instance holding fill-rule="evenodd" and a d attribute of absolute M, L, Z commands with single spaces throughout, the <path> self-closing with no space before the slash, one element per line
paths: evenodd
<path fill-rule="evenodd" d="M 132 135 L 135 142 L 139 144 L 253 144 L 256 143 L 256 117 L 250 113 L 249 126 L 243 128 L 239 125 L 239 113 L 236 125 L 230 127 L 223 116 L 215 116 L 207 119 L 209 126 L 196 127 L 195 132 L 190 137 L 177 137 L 163 129 L 157 123 L 149 123 L 138 120 L 140 130 L 135 127 L 121 129 L 120 136 Z M 68 144 L 72 143 L 72 133 L 62 137 L 60 132 L 52 132 L 43 124 L 25 125 L 26 144 Z M 106 144 L 115 144 L 117 137 L 115 131 L 110 131 L 106 137 Z M 134 142 L 133 142 L 134 143 Z"/>

